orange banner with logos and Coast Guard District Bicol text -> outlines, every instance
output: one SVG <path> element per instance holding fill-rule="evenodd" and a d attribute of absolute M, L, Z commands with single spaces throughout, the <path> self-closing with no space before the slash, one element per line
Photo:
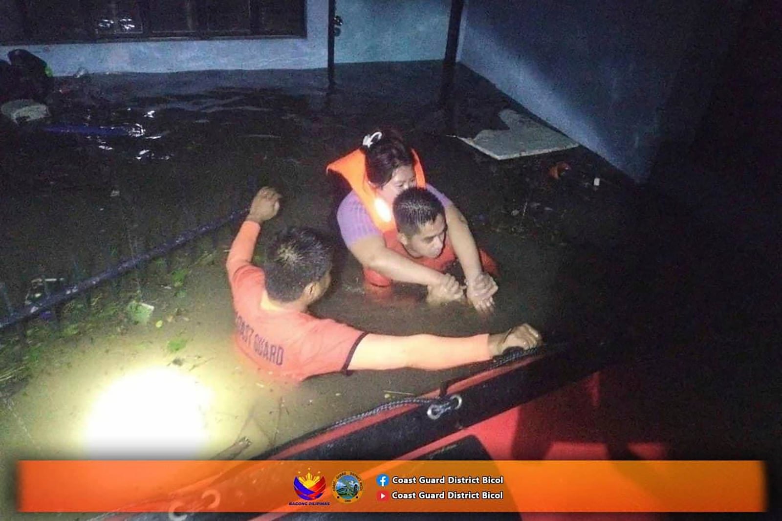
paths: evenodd
<path fill-rule="evenodd" d="M 23 461 L 20 512 L 764 512 L 756 461 Z"/>

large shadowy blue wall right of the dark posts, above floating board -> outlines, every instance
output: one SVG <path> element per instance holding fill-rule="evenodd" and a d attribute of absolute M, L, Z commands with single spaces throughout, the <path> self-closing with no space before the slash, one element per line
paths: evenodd
<path fill-rule="evenodd" d="M 469 0 L 460 61 L 645 181 L 694 135 L 743 0 Z"/>

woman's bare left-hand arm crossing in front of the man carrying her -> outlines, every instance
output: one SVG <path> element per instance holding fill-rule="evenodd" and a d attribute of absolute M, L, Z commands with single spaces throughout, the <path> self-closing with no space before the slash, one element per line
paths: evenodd
<path fill-rule="evenodd" d="M 362 266 L 397 282 L 436 286 L 443 278 L 439 271 L 422 266 L 386 248 L 380 235 L 359 239 L 348 246 L 348 249 Z"/>

